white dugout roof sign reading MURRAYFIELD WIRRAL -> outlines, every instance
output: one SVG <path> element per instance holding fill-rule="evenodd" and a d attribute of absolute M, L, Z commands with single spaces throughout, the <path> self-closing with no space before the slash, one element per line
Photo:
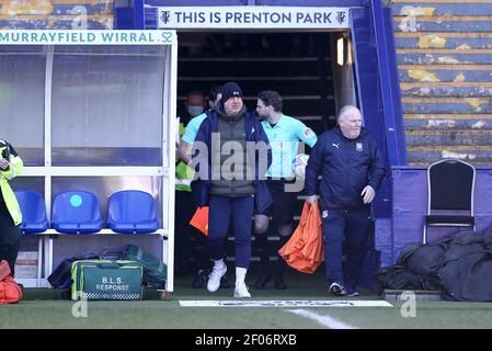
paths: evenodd
<path fill-rule="evenodd" d="M 0 45 L 171 45 L 174 31 L 0 31 Z"/>

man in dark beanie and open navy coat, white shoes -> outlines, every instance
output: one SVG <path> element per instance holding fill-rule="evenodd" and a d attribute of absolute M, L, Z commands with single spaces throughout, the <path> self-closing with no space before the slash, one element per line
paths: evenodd
<path fill-rule="evenodd" d="M 208 246 L 214 260 L 207 290 L 215 292 L 226 274 L 225 241 L 232 223 L 236 242 L 234 297 L 251 297 L 244 279 L 251 258 L 253 206 L 272 203 L 264 174 L 272 162 L 268 138 L 254 115 L 247 112 L 234 82 L 222 87 L 222 98 L 196 134 L 192 163 L 196 165 L 201 201 L 209 206 Z"/>

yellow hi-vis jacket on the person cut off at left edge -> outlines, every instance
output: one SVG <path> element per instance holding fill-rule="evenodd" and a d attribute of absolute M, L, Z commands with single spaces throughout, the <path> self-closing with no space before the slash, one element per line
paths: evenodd
<path fill-rule="evenodd" d="M 8 148 L 9 145 L 0 148 L 0 155 L 3 149 Z M 9 210 L 10 216 L 13 219 L 13 223 L 18 226 L 22 223 L 22 213 L 21 207 L 19 206 L 18 199 L 15 194 L 10 188 L 9 180 L 14 177 L 18 177 L 22 172 L 22 168 L 24 163 L 19 156 L 9 156 L 10 167 L 7 171 L 0 170 L 0 189 L 2 192 L 3 201 L 5 202 L 7 210 Z"/>

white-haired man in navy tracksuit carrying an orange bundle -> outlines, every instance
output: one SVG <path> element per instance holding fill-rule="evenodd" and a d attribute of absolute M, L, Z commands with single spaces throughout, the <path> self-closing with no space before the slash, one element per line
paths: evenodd
<path fill-rule="evenodd" d="M 322 176 L 320 210 L 329 292 L 356 296 L 371 220 L 370 203 L 386 171 L 376 141 L 362 127 L 358 109 L 344 106 L 337 122 L 311 150 L 305 192 L 308 203 L 317 201 L 317 179 Z M 343 269 L 342 248 L 346 250 Z"/>

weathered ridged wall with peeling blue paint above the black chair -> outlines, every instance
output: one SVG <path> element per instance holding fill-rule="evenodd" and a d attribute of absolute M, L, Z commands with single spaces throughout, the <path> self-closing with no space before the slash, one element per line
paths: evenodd
<path fill-rule="evenodd" d="M 492 1 L 396 0 L 410 165 L 492 163 Z"/>

